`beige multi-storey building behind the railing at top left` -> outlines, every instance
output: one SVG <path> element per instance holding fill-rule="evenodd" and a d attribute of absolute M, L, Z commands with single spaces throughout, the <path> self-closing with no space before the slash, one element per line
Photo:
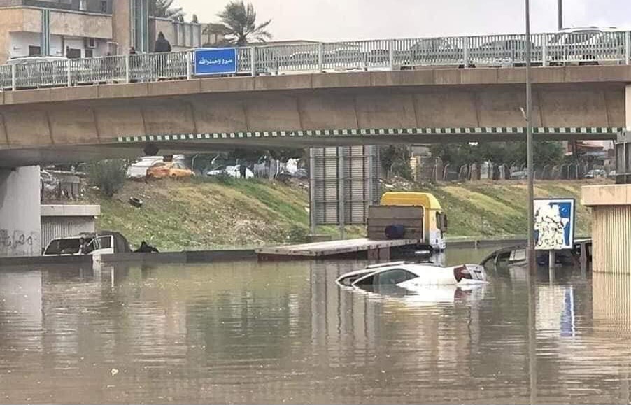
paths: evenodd
<path fill-rule="evenodd" d="M 0 0 L 0 64 L 150 52 L 160 31 L 173 50 L 201 45 L 201 24 L 150 17 L 147 0 Z"/>

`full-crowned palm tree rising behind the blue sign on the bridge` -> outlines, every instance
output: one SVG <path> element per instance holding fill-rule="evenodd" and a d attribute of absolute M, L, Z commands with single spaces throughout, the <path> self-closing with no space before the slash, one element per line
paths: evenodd
<path fill-rule="evenodd" d="M 227 3 L 222 13 L 218 14 L 225 27 L 228 40 L 236 45 L 246 45 L 250 41 L 265 42 L 271 39 L 271 34 L 265 29 L 271 22 L 267 20 L 256 24 L 256 11 L 252 3 L 246 6 L 243 0 L 232 0 Z"/>

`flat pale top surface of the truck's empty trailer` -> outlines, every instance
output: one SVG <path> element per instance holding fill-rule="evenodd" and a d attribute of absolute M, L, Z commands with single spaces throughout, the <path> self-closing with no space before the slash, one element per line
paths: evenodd
<path fill-rule="evenodd" d="M 344 253 L 364 252 L 397 246 L 415 245 L 414 239 L 392 239 L 388 241 L 372 241 L 370 239 L 349 239 L 346 241 L 327 241 L 303 243 L 300 245 L 274 246 L 270 248 L 259 248 L 256 253 L 261 256 L 276 257 L 309 257 L 318 258 L 332 255 L 342 255 Z"/>

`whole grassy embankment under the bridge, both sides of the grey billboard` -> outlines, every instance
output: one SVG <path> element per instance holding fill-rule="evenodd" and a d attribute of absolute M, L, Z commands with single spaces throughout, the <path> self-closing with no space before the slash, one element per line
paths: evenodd
<path fill-rule="evenodd" d="M 578 204 L 584 182 L 538 182 L 537 197 L 574 197 L 576 234 L 589 233 L 589 213 Z M 495 238 L 523 234 L 526 185 L 521 182 L 414 185 L 408 190 L 433 192 L 449 218 L 450 237 Z M 142 208 L 129 197 L 143 200 Z M 264 180 L 128 182 L 113 199 L 87 193 L 84 202 L 101 204 L 100 229 L 125 234 L 134 246 L 148 241 L 160 250 L 199 250 L 227 246 L 261 246 L 302 241 L 309 232 L 309 195 L 301 185 Z M 319 233 L 336 235 L 336 227 Z M 347 237 L 363 236 L 363 227 L 348 227 Z"/>

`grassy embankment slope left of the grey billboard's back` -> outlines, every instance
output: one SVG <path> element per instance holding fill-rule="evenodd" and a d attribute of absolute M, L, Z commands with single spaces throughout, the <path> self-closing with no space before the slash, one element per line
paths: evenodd
<path fill-rule="evenodd" d="M 129 197 L 143 206 L 134 208 Z M 302 241 L 309 234 L 309 194 L 300 185 L 232 178 L 129 181 L 112 199 L 90 190 L 85 201 L 101 204 L 99 229 L 159 250 L 255 247 Z M 362 230 L 353 227 L 349 234 L 360 236 Z M 336 234 L 334 227 L 321 231 Z"/>

